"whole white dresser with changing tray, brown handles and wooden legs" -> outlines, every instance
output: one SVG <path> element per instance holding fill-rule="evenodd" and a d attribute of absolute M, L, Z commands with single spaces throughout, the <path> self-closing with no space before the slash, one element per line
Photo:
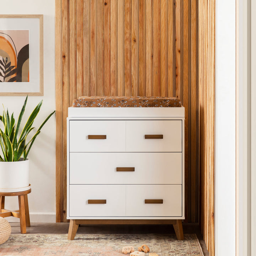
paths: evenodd
<path fill-rule="evenodd" d="M 184 108 L 69 108 L 68 239 L 79 224 L 173 224 L 183 239 Z"/>

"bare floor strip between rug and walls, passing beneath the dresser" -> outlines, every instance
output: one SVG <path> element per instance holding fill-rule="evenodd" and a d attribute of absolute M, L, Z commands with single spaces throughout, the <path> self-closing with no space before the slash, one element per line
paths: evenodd
<path fill-rule="evenodd" d="M 20 234 L 20 223 L 10 223 L 12 234 Z M 183 223 L 184 234 L 197 234 L 204 256 L 209 256 L 198 224 Z M 69 223 L 31 223 L 27 234 L 68 234 Z M 172 234 L 172 225 L 81 225 L 77 234 Z"/>

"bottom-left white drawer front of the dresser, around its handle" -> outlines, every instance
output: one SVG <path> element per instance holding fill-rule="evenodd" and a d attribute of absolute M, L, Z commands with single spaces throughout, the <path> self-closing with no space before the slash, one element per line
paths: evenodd
<path fill-rule="evenodd" d="M 106 200 L 89 204 L 88 200 Z M 69 216 L 125 216 L 125 185 L 70 185 Z"/>

